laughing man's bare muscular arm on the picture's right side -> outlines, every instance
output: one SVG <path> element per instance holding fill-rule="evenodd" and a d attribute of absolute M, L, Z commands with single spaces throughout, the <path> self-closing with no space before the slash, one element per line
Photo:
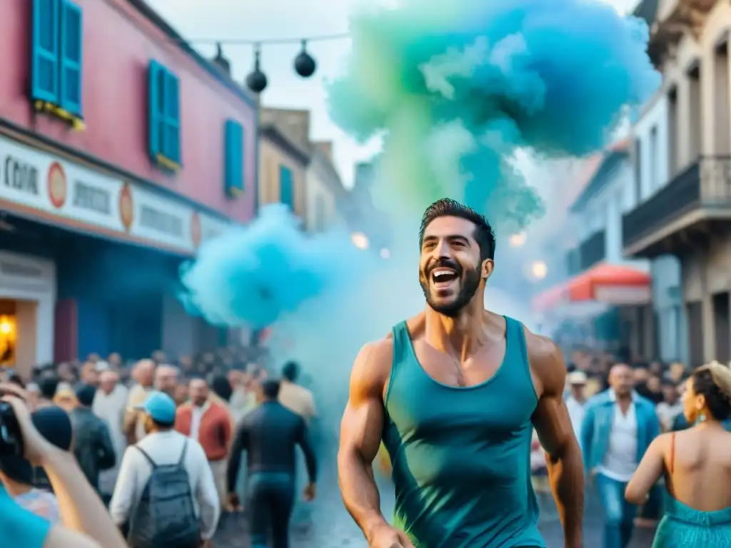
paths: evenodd
<path fill-rule="evenodd" d="M 564 402 L 566 364 L 552 340 L 530 333 L 526 338 L 540 396 L 533 424 L 546 451 L 551 490 L 564 525 L 564 543 L 567 548 L 581 547 L 584 473 L 581 449 Z"/>

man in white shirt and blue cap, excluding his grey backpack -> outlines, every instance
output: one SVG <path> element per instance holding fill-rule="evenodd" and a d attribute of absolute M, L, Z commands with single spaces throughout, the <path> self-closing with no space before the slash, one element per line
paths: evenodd
<path fill-rule="evenodd" d="M 173 430 L 175 402 L 167 394 L 151 392 L 140 411 L 144 414 L 147 435 L 124 453 L 109 506 L 112 519 L 118 527 L 124 527 L 142 498 L 152 471 L 145 454 L 156 465 L 174 465 L 180 462 L 183 448 L 186 448 L 183 465 L 188 473 L 194 510 L 200 521 L 201 539 L 210 543 L 216 533 L 221 503 L 203 448 L 194 439 Z"/>

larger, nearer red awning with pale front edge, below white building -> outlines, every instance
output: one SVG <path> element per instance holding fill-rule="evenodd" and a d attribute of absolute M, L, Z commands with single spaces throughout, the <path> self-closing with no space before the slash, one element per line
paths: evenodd
<path fill-rule="evenodd" d="M 651 299 L 651 283 L 651 275 L 642 270 L 603 263 L 572 278 L 567 283 L 567 297 L 571 302 L 639 305 Z"/>

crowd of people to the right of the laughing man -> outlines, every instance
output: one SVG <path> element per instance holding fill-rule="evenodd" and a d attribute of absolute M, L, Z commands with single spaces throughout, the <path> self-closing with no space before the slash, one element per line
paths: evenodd
<path fill-rule="evenodd" d="M 604 509 L 603 546 L 624 548 L 635 526 L 655 527 L 661 518 L 658 546 L 680 546 L 680 539 L 695 546 L 701 539 L 689 536 L 692 527 L 676 530 L 677 520 L 697 522 L 694 534 L 717 543 L 721 532 L 729 533 L 731 514 L 724 510 L 709 518 L 692 508 L 725 508 L 731 502 L 727 495 L 713 495 L 727 485 L 714 487 L 714 481 L 731 479 L 728 453 L 717 449 L 731 440 L 726 435 L 731 430 L 731 370 L 716 362 L 689 371 L 681 362 L 626 361 L 578 349 L 568 365 L 565 399 L 586 481 L 596 488 Z M 700 428 L 691 429 L 694 425 Z M 689 444 L 676 450 L 676 438 Z M 532 460 L 537 476 L 542 476 L 540 460 Z M 707 485 L 713 501 L 692 493 L 692 482 Z M 700 527 L 709 522 L 718 525 L 711 536 Z M 673 535 L 675 544 L 667 544 Z"/>

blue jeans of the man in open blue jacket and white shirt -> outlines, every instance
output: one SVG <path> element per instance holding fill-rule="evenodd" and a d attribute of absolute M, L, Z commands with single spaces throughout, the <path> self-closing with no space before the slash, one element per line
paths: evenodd
<path fill-rule="evenodd" d="M 626 548 L 635 528 L 637 506 L 624 499 L 626 482 L 596 474 L 596 489 L 604 508 L 603 548 Z"/>

